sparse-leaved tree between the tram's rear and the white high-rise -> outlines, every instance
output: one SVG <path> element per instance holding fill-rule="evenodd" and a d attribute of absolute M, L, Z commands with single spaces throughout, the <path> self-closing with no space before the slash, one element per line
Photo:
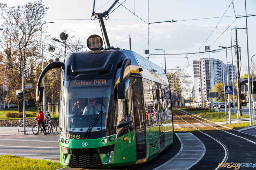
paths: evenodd
<path fill-rule="evenodd" d="M 183 70 L 179 70 L 175 73 L 167 73 L 167 77 L 171 87 L 172 103 L 175 103 L 174 99 L 176 97 L 181 100 L 181 98 L 187 94 L 190 90 L 192 81 L 188 79 L 190 75 L 185 73 Z M 178 101 L 178 105 L 180 100 Z"/>

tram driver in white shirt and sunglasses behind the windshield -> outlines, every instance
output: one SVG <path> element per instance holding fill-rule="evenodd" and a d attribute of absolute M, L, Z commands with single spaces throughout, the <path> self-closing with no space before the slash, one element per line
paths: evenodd
<path fill-rule="evenodd" d="M 88 104 L 84 111 L 83 115 L 95 115 L 99 114 L 101 111 L 101 104 L 97 103 L 97 98 L 89 98 L 90 104 Z M 102 105 L 102 112 L 107 112 L 105 107 Z"/>

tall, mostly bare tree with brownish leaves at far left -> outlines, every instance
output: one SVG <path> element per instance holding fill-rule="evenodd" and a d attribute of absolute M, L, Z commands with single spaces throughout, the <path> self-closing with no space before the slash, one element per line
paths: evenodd
<path fill-rule="evenodd" d="M 35 71 L 40 58 L 40 27 L 42 18 L 48 8 L 42 0 L 28 2 L 25 5 L 8 7 L 0 3 L 1 18 L 5 18 L 1 25 L 3 36 L 1 37 L 0 53 L 1 64 L 4 65 L 6 86 L 9 89 L 8 101 L 15 102 L 16 89 L 21 89 L 21 62 L 24 62 L 25 82 L 35 84 Z M 35 88 L 26 90 L 26 100 L 34 102 Z M 22 111 L 21 101 L 18 100 L 19 112 Z"/>

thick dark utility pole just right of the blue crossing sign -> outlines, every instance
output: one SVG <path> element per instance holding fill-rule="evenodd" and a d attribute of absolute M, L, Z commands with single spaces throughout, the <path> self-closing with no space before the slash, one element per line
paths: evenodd
<path fill-rule="evenodd" d="M 238 108 L 238 115 L 242 116 L 242 111 L 239 111 L 239 109 L 242 109 L 242 102 L 241 102 L 241 80 L 240 80 L 240 69 L 239 69 L 239 53 L 238 53 L 238 43 L 237 43 L 237 29 L 236 29 L 236 78 L 237 78 L 237 108 Z"/>

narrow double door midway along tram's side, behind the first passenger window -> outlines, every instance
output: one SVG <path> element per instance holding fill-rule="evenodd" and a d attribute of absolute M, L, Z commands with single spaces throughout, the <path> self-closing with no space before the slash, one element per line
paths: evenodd
<path fill-rule="evenodd" d="M 157 106 L 158 106 L 158 113 L 159 113 L 159 137 L 160 137 L 160 150 L 164 148 L 164 115 L 163 115 L 163 108 L 162 108 L 162 91 L 161 91 L 161 84 L 156 84 L 156 92 L 157 92 Z"/>

